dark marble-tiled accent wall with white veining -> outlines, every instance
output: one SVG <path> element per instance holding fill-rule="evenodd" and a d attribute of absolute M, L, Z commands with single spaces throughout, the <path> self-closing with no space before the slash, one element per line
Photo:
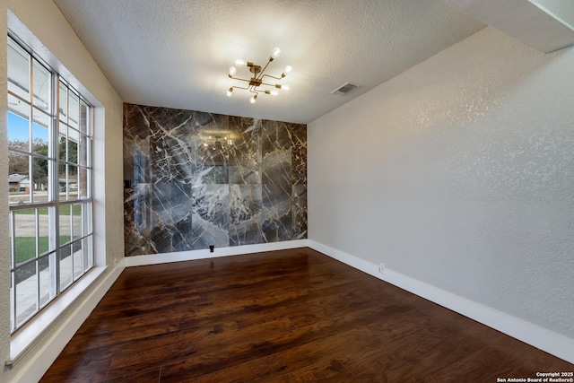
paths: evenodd
<path fill-rule="evenodd" d="M 307 126 L 124 104 L 126 256 L 307 238 Z"/>

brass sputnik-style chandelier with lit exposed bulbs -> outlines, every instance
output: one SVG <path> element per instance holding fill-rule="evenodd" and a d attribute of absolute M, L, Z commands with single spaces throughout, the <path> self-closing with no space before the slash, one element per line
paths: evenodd
<path fill-rule="evenodd" d="M 273 96 L 276 96 L 277 94 L 279 94 L 279 91 L 277 91 L 278 89 L 283 89 L 284 91 L 289 91 L 289 85 L 287 85 L 287 84 L 282 85 L 279 83 L 264 83 L 265 78 L 267 78 L 267 77 L 275 79 L 275 80 L 282 80 L 283 77 L 285 77 L 288 73 L 291 72 L 291 69 L 292 69 L 291 66 L 287 65 L 287 66 L 285 66 L 285 69 L 283 70 L 281 77 L 275 77 L 275 76 L 272 76 L 270 74 L 265 74 L 265 69 L 267 69 L 267 66 L 269 66 L 269 64 L 271 64 L 271 62 L 275 58 L 279 57 L 280 53 L 281 53 L 281 49 L 274 48 L 273 52 L 271 52 L 271 56 L 269 57 L 269 60 L 267 61 L 267 64 L 265 64 L 265 66 L 263 68 L 261 68 L 260 65 L 255 65 L 249 61 L 245 62 L 241 59 L 237 60 L 235 62 L 235 64 L 236 65 L 246 65 L 249 68 L 249 72 L 251 72 L 252 77 L 250 79 L 235 77 L 235 74 L 237 73 L 237 68 L 235 66 L 231 66 L 229 77 L 233 80 L 239 80 L 239 81 L 243 81 L 245 83 L 248 83 L 248 85 L 246 87 L 241 87 L 241 86 L 230 87 L 230 89 L 227 91 L 227 96 L 231 97 L 234 89 L 243 89 L 245 91 L 249 91 L 251 93 L 254 93 L 253 97 L 251 97 L 251 100 L 249 100 L 249 101 L 252 104 L 255 104 L 255 102 L 257 101 L 257 96 L 259 95 L 259 93 L 271 94 Z M 265 89 L 264 87 L 271 88 L 271 89 Z"/>

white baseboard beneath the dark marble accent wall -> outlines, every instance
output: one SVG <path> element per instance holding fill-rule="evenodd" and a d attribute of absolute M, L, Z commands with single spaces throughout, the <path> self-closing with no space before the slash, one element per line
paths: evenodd
<path fill-rule="evenodd" d="M 152 254 L 146 256 L 125 257 L 126 267 L 140 265 L 166 264 L 170 262 L 192 261 L 196 259 L 239 256 L 241 254 L 261 253 L 264 251 L 284 250 L 287 248 L 307 248 L 308 239 L 285 240 L 282 242 L 260 243 L 257 245 L 233 246 L 229 248 L 178 251 L 175 253 Z"/>

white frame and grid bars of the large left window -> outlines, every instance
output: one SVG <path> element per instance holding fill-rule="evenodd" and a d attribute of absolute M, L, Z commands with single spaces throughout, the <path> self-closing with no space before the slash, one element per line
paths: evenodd
<path fill-rule="evenodd" d="M 9 34 L 10 35 L 10 34 Z M 83 96 L 78 92 L 75 91 L 74 88 L 69 84 L 66 83 L 64 79 L 60 78 L 59 74 L 56 71 L 51 69 L 48 65 L 46 65 L 39 57 L 22 44 L 21 41 L 17 39 L 16 36 L 10 35 L 9 36 L 9 44 L 15 44 L 21 48 L 21 51 L 26 52 L 29 55 L 29 68 L 30 68 L 30 83 L 29 83 L 29 99 L 26 100 L 25 97 L 22 95 L 17 94 L 13 91 L 8 91 L 9 98 L 12 100 L 16 100 L 19 103 L 25 104 L 23 108 L 28 108 L 28 119 L 29 119 L 29 126 L 30 126 L 30 146 L 29 150 L 20 150 L 20 149 L 9 149 L 9 153 L 19 153 L 22 156 L 28 156 L 29 158 L 29 172 L 28 175 L 33 174 L 33 159 L 39 160 L 47 160 L 48 161 L 48 200 L 47 201 L 34 201 L 34 178 L 29 177 L 30 179 L 30 190 L 29 190 L 29 198 L 28 201 L 24 201 L 22 204 L 14 205 L 10 204 L 10 248 L 11 248 L 11 333 L 15 334 L 21 328 L 27 326 L 27 323 L 30 319 L 35 318 L 43 309 L 48 308 L 48 306 L 55 306 L 53 302 L 57 300 L 57 298 L 65 292 L 68 288 L 73 286 L 74 284 L 79 283 L 80 280 L 83 278 L 85 274 L 87 274 L 94 266 L 94 252 L 93 252 L 93 120 L 94 120 L 94 112 L 93 108 L 91 107 L 90 103 L 87 102 L 83 98 Z M 40 65 L 43 69 L 47 70 L 50 76 L 50 83 L 51 83 L 51 94 L 49 95 L 51 102 L 48 104 L 52 107 L 49 108 L 48 116 L 50 119 L 49 128 L 48 128 L 48 154 L 46 156 L 36 155 L 34 154 L 34 149 L 31 144 L 33 139 L 32 131 L 35 127 L 33 123 L 34 113 L 42 114 L 43 112 L 40 111 L 37 105 L 35 105 L 35 95 L 34 95 L 34 65 Z M 8 79 L 10 82 L 10 79 Z M 62 100 L 64 97 L 61 89 L 65 90 L 65 103 Z M 69 102 L 70 100 L 77 100 L 78 102 L 78 115 L 75 121 L 73 122 L 72 119 L 69 118 L 69 113 L 64 114 L 62 113 L 62 108 L 60 105 L 65 105 L 66 110 L 69 109 Z M 58 107 L 56 107 L 58 106 Z M 85 128 L 81 128 L 80 110 L 84 109 L 86 111 L 86 118 L 85 118 Z M 10 105 L 9 105 L 10 110 Z M 74 125 L 76 124 L 76 125 Z M 9 130 L 10 131 L 10 130 Z M 63 134 L 63 135 L 62 135 Z M 64 138 L 62 138 L 64 137 Z M 60 140 L 63 139 L 64 147 L 65 147 L 65 155 L 61 157 L 60 155 Z M 74 141 L 75 139 L 75 141 Z M 79 154 L 81 152 L 78 149 L 79 142 L 85 142 L 82 148 L 85 150 L 85 158 L 82 154 L 82 158 L 85 161 L 81 161 L 78 159 Z M 72 152 L 70 149 L 74 146 L 76 147 L 76 154 L 75 158 L 73 158 L 70 153 Z M 65 169 L 65 190 L 64 193 L 60 192 L 60 169 Z M 75 172 L 74 172 L 75 170 Z M 80 170 L 82 170 L 82 174 L 84 177 L 80 176 Z M 71 182 L 71 176 L 74 177 L 75 174 L 75 192 L 71 192 L 74 187 L 74 183 Z M 83 178 L 82 182 L 80 178 Z M 83 184 L 80 187 L 80 184 Z M 18 212 L 22 213 L 22 210 L 30 210 L 33 209 L 34 217 L 35 217 L 35 254 L 33 257 L 27 258 L 25 261 L 21 263 L 17 262 L 17 252 L 14 251 L 16 240 L 18 235 L 15 229 L 15 220 L 19 214 Z M 40 234 L 39 228 L 42 225 L 39 223 L 40 209 L 48 209 L 48 250 L 41 251 L 40 243 Z M 62 226 L 62 222 L 60 220 L 59 213 L 60 211 L 68 210 L 69 215 L 69 229 L 64 230 L 66 224 Z M 46 210 L 42 210 L 46 211 Z M 75 215 L 76 211 L 79 212 L 79 220 L 76 220 Z M 61 217 L 63 220 L 66 220 L 65 215 Z M 68 220 L 66 220 L 68 221 Z M 62 231 L 62 233 L 60 233 Z M 65 237 L 64 231 L 69 235 Z M 76 232 L 74 232 L 76 231 Z M 80 231 L 79 233 L 77 231 Z M 62 234 L 62 235 L 60 235 Z M 72 251 L 76 249 L 76 251 Z M 61 256 L 65 254 L 65 252 L 69 253 L 68 257 L 61 259 Z M 80 254 L 80 256 L 76 256 L 76 254 Z M 85 257 L 84 257 L 85 256 Z M 68 259 L 69 258 L 69 259 Z M 48 262 L 48 280 L 52 283 L 49 283 L 49 294 L 48 299 L 42 300 L 42 295 L 40 292 L 40 262 Z M 69 263 L 70 269 L 67 274 L 65 274 L 65 268 L 61 266 L 65 263 Z M 75 264 L 75 267 L 74 267 Z M 18 284 L 15 284 L 17 280 L 16 274 L 21 273 L 22 270 L 29 265 L 34 265 L 35 273 L 30 278 L 35 278 L 35 307 L 34 309 L 28 313 L 26 312 L 22 318 L 18 318 L 18 302 L 22 300 L 18 298 Z M 68 278 L 69 276 L 69 278 Z M 28 278 L 27 280 L 31 279 Z M 26 280 L 26 281 L 27 281 Z M 23 283 L 21 281 L 21 283 Z M 31 283 L 30 283 L 31 284 Z M 14 289 L 15 287 L 15 289 Z M 22 287 L 23 288 L 23 287 Z M 29 291 L 32 291 L 29 289 Z"/>

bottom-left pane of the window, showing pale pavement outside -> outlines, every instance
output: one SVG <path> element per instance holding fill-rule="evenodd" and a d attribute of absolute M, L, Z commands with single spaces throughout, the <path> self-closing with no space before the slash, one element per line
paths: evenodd
<path fill-rule="evenodd" d="M 16 326 L 19 326 L 37 310 L 38 280 L 36 262 L 17 269 L 14 277 L 16 285 Z"/>

